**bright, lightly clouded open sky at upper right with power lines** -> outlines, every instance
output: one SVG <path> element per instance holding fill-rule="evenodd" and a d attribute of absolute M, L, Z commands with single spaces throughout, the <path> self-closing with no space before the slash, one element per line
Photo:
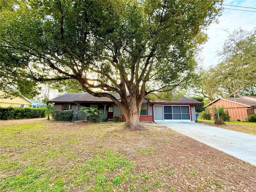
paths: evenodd
<path fill-rule="evenodd" d="M 216 66 L 218 64 L 220 57 L 216 56 L 216 54 L 218 51 L 222 50 L 224 42 L 229 35 L 224 30 L 228 30 L 232 33 L 239 28 L 252 31 L 256 27 L 256 0 L 224 0 L 223 4 L 232 5 L 224 6 L 224 8 L 237 10 L 224 9 L 222 16 L 218 18 L 218 24 L 210 24 L 206 31 L 208 34 L 208 42 L 203 45 L 202 53 L 200 54 L 200 58 L 203 59 L 200 65 L 203 68 L 208 68 L 212 65 Z M 251 7 L 254 9 L 235 6 Z M 240 10 L 250 10 L 254 12 Z"/>

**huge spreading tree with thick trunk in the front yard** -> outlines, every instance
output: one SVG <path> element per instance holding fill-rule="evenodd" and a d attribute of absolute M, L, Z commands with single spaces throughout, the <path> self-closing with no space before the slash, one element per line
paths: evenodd
<path fill-rule="evenodd" d="M 18 76 L 77 80 L 89 94 L 112 99 L 125 128 L 142 129 L 145 96 L 193 82 L 194 53 L 221 2 L 20 0 L 2 7 L 0 48 L 22 63 L 5 63 L 22 69 Z"/>

